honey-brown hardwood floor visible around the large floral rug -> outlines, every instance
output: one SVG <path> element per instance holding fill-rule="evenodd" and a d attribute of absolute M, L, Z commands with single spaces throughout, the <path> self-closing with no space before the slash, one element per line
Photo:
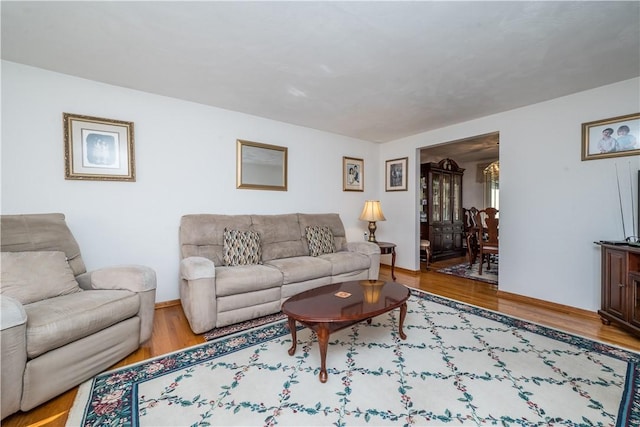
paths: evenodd
<path fill-rule="evenodd" d="M 595 312 L 506 294 L 499 292 L 499 287 L 495 285 L 436 271 L 461 262 L 464 262 L 463 258 L 444 260 L 432 263 L 429 270 L 426 270 L 423 265 L 419 274 L 396 269 L 396 281 L 447 298 L 640 352 L 640 338 L 617 326 L 603 325 Z M 391 272 L 387 266 L 381 267 L 380 279 L 391 280 Z M 194 335 L 191 332 L 180 305 L 168 304 L 156 309 L 151 339 L 112 368 L 180 350 L 204 341 L 202 335 Z M 51 374 L 55 375 L 54 372 Z M 76 392 L 77 388 L 74 388 L 29 412 L 11 415 L 2 421 L 2 426 L 64 426 Z"/>

